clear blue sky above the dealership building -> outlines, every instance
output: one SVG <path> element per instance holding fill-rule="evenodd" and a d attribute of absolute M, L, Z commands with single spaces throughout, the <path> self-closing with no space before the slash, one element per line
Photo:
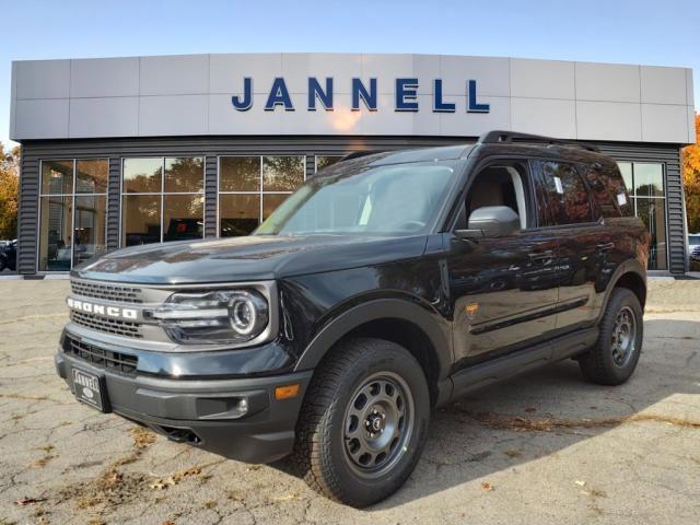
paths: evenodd
<path fill-rule="evenodd" d="M 189 52 L 427 52 L 681 66 L 700 106 L 700 0 L 0 0 L 12 60 Z"/>

